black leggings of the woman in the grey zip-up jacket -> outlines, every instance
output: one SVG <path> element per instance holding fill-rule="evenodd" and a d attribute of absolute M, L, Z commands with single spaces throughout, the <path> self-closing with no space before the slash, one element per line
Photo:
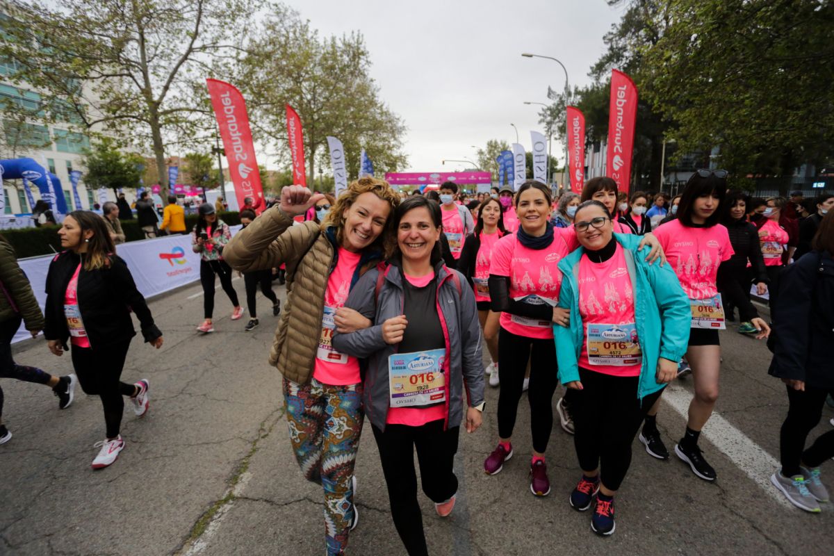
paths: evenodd
<path fill-rule="evenodd" d="M 432 502 L 445 502 L 458 492 L 458 478 L 452 467 L 458 451 L 460 427 L 443 430 L 441 419 L 422 427 L 386 425 L 384 432 L 375 426 L 372 428 L 388 486 L 394 527 L 409 556 L 428 556 L 423 515 L 417 502 L 414 448 L 417 448 L 423 492 Z"/>

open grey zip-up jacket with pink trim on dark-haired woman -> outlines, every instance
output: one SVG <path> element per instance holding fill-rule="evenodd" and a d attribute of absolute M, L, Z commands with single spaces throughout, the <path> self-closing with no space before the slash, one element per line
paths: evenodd
<path fill-rule="evenodd" d="M 398 345 L 382 339 L 382 323 L 403 314 L 403 278 L 397 263 L 384 271 L 376 295 L 379 269 L 371 268 L 350 291 L 345 307 L 371 320 L 371 326 L 353 333 L 334 333 L 333 347 L 340 353 L 367 358 L 362 401 L 374 427 L 385 429 L 389 408 L 388 358 Z M 457 279 L 452 273 L 457 275 Z M 466 278 L 440 261 L 435 266 L 437 306 L 446 342 L 446 420 L 444 428 L 457 427 L 464 418 L 463 390 L 470 407 L 484 401 L 484 365 L 481 361 L 481 333 L 475 294 Z M 455 283 L 457 282 L 457 284 Z M 459 288 L 460 285 L 460 288 Z M 405 315 L 406 318 L 408 315 Z"/>

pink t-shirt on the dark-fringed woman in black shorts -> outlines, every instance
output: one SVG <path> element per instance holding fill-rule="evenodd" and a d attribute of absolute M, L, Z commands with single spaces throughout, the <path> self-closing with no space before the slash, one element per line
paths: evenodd
<path fill-rule="evenodd" d="M 718 294 L 716 276 L 722 262 L 735 253 L 727 228 L 691 228 L 670 220 L 655 230 L 666 259 L 690 299 L 708 299 Z"/>

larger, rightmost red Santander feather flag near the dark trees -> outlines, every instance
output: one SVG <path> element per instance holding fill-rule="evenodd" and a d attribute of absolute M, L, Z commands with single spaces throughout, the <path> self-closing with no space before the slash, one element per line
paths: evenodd
<path fill-rule="evenodd" d="M 617 69 L 611 70 L 609 110 L 605 168 L 617 183 L 617 189 L 628 193 L 637 118 L 637 88 L 630 77 Z"/>

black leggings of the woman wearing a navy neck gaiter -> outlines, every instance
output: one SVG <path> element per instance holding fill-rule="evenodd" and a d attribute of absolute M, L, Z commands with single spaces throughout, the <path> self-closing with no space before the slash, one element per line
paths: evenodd
<path fill-rule="evenodd" d="M 515 415 L 524 388 L 530 354 L 530 429 L 533 449 L 545 453 L 553 429 L 553 393 L 556 391 L 556 348 L 553 339 L 527 338 L 507 332 L 498 333 L 498 435 L 510 438 L 515 428 Z"/>

